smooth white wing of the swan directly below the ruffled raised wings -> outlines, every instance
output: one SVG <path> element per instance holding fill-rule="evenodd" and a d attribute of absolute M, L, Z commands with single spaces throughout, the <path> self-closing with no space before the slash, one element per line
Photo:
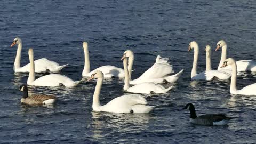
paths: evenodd
<path fill-rule="evenodd" d="M 162 85 L 156 84 L 156 83 L 151 83 L 151 82 L 146 82 L 146 83 L 141 83 L 134 85 L 127 89 L 128 92 L 132 93 L 146 93 L 150 94 L 151 92 L 154 93 L 166 93 L 169 89 L 165 89 Z"/>

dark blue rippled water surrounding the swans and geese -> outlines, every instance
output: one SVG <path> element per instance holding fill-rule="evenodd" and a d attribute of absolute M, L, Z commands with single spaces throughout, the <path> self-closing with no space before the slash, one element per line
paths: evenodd
<path fill-rule="evenodd" d="M 255 96 L 230 95 L 230 81 L 190 81 L 197 41 L 203 51 L 220 39 L 236 60 L 256 60 L 255 1 L 0 1 L 0 143 L 256 143 Z M 30 93 L 54 94 L 55 106 L 20 104 L 18 87 L 28 74 L 13 73 L 15 37 L 23 41 L 21 65 L 33 47 L 35 59 L 49 58 L 74 80 L 84 65 L 82 42 L 89 42 L 91 68 L 122 67 L 125 50 L 134 51 L 133 78 L 153 65 L 156 55 L 169 57 L 175 71 L 185 73 L 166 94 L 148 96 L 160 105 L 150 114 L 113 114 L 92 111 L 95 82 L 74 88 L 29 87 Z M 205 69 L 205 54 L 198 71 Z M 218 67 L 220 51 L 212 53 Z M 45 74 L 37 74 L 40 77 Z M 238 87 L 256 82 L 244 73 Z M 123 95 L 123 79 L 103 83 L 101 104 Z M 164 86 L 170 86 L 166 84 Z M 225 113 L 235 117 L 227 126 L 198 126 L 182 110 L 194 103 L 197 114 Z"/>

